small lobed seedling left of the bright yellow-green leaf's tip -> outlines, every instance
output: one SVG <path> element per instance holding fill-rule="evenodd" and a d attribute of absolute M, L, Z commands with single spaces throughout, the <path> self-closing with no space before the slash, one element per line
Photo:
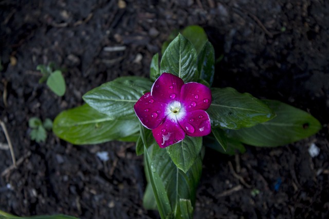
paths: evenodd
<path fill-rule="evenodd" d="M 47 139 L 47 131 L 51 131 L 52 129 L 52 121 L 50 118 L 46 118 L 42 123 L 40 118 L 31 117 L 29 119 L 29 127 L 32 129 L 30 132 L 31 140 L 35 140 L 35 142 L 38 143 L 45 142 Z"/>

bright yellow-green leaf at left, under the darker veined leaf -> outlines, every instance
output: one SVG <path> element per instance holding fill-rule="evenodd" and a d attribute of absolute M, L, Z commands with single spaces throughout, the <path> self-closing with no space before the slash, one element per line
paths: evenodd
<path fill-rule="evenodd" d="M 76 145 L 98 144 L 130 136 L 138 120 L 113 120 L 87 104 L 61 112 L 53 122 L 53 132 Z"/>

